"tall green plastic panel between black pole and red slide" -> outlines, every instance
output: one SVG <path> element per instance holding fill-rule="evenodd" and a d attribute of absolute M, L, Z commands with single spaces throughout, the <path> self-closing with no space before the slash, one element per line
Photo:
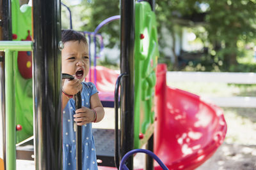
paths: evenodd
<path fill-rule="evenodd" d="M 141 148 L 154 132 L 154 90 L 159 56 L 156 15 L 150 4 L 145 1 L 135 5 L 134 55 L 134 148 Z"/>

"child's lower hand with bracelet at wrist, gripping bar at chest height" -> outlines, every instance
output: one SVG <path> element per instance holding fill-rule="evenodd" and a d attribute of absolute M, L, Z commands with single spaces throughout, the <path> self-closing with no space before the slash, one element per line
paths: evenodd
<path fill-rule="evenodd" d="M 94 120 L 94 112 L 89 108 L 82 107 L 76 110 L 76 114 L 74 115 L 74 121 L 79 122 L 77 125 L 85 125 Z"/>

